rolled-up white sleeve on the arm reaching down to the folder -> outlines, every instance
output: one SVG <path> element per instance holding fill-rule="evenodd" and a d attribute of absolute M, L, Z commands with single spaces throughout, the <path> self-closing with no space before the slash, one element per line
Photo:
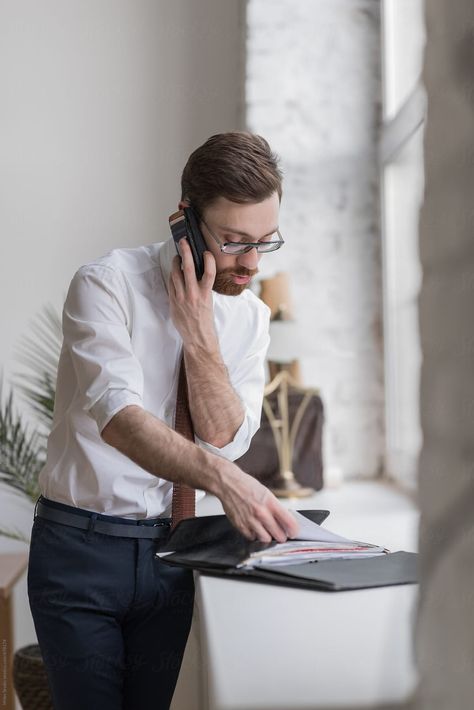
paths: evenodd
<path fill-rule="evenodd" d="M 63 347 L 84 410 L 99 432 L 124 407 L 143 407 L 143 370 L 132 348 L 131 313 L 121 274 L 89 264 L 74 275 L 63 309 Z"/>

